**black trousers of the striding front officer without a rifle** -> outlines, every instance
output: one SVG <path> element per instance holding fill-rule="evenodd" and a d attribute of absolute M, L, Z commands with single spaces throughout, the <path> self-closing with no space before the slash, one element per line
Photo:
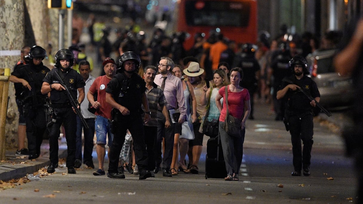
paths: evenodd
<path fill-rule="evenodd" d="M 141 115 L 134 113 L 128 116 L 122 116 L 119 113 L 117 117 L 117 129 L 113 130 L 114 139 L 112 141 L 109 173 L 116 173 L 118 168 L 119 156 L 123 142 L 125 142 L 126 130 L 129 129 L 134 144 L 135 161 L 140 172 L 147 168 L 147 151 L 144 137 L 144 127 Z"/>

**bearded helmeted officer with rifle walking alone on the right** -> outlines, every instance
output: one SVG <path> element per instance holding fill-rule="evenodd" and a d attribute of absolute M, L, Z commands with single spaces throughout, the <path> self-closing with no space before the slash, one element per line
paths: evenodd
<path fill-rule="evenodd" d="M 287 101 L 285 119 L 288 122 L 291 143 L 293 145 L 293 165 L 292 176 L 301 176 L 301 168 L 304 176 L 310 175 L 311 147 L 313 146 L 313 113 L 312 109 L 316 106 L 315 101 L 319 102 L 320 93 L 317 84 L 306 74 L 306 59 L 296 55 L 289 61 L 289 67 L 293 75 L 282 80 L 282 84 L 277 91 L 277 99 L 285 98 Z M 291 83 L 292 82 L 292 83 Z M 299 88 L 302 88 L 315 100 L 309 100 Z M 301 140 L 303 149 L 301 154 Z"/>

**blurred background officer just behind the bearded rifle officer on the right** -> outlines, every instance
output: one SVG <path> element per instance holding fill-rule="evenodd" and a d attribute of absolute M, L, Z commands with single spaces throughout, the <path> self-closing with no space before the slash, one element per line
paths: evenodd
<path fill-rule="evenodd" d="M 278 51 L 271 57 L 271 68 L 272 68 L 272 97 L 274 103 L 274 110 L 276 112 L 275 120 L 283 120 L 284 118 L 284 103 L 281 100 L 276 100 L 276 93 L 278 87 L 281 84 L 282 79 L 285 76 L 291 75 L 289 61 L 291 59 L 290 46 L 286 42 L 281 42 L 278 45 Z"/>

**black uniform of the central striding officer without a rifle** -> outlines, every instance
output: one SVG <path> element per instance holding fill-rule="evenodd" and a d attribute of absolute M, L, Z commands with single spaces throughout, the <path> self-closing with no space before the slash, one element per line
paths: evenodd
<path fill-rule="evenodd" d="M 142 172 L 147 168 L 147 151 L 144 140 L 144 128 L 142 121 L 142 95 L 145 93 L 146 83 L 136 73 L 131 78 L 122 72 L 115 75 L 107 84 L 106 92 L 113 96 L 113 99 L 130 111 L 130 115 L 122 115 L 118 110 L 113 109 L 113 120 L 116 122 L 117 130 L 113 130 L 114 139 L 110 151 L 109 173 L 118 172 L 119 155 L 125 141 L 126 130 L 129 129 L 135 150 L 136 165 Z M 114 127 L 114 124 L 113 124 Z"/>

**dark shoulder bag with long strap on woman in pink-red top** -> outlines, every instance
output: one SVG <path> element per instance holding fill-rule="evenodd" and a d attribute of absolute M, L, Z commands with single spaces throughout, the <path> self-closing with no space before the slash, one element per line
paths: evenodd
<path fill-rule="evenodd" d="M 227 132 L 227 134 L 233 136 L 233 137 L 242 137 L 242 131 L 241 131 L 241 121 L 242 119 L 233 117 L 229 115 L 228 112 L 228 86 L 225 86 L 225 100 L 226 100 L 226 108 L 227 108 L 227 115 L 224 119 L 224 126 L 223 129 Z"/>

